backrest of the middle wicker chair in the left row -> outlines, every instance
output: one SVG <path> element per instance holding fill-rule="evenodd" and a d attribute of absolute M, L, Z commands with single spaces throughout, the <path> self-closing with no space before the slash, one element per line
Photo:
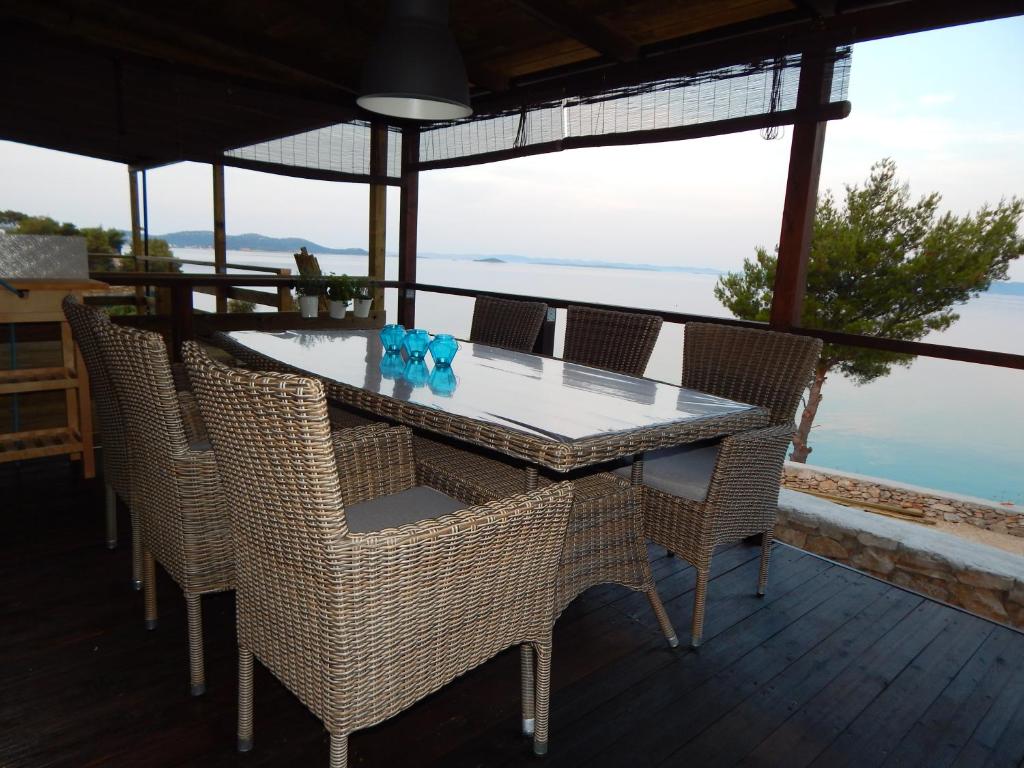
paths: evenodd
<path fill-rule="evenodd" d="M 121 403 L 131 458 L 132 510 L 143 545 L 180 580 L 188 572 L 185 528 L 174 457 L 188 451 L 181 408 L 160 334 L 113 323 L 97 329 L 103 364 Z"/>

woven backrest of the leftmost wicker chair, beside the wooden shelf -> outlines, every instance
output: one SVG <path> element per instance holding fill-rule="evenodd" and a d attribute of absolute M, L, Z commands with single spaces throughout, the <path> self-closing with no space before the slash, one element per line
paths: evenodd
<path fill-rule="evenodd" d="M 126 503 L 131 500 L 131 463 L 125 436 L 121 403 L 114 392 L 110 371 L 103 364 L 96 338 L 97 329 L 111 325 L 106 313 L 86 306 L 73 296 L 63 299 L 63 313 L 89 375 L 92 400 L 96 403 L 102 438 L 103 476 Z"/>

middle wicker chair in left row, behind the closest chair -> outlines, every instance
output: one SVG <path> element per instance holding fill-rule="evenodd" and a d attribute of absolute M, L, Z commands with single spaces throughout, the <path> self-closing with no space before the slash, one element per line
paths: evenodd
<path fill-rule="evenodd" d="M 201 595 L 233 589 L 234 564 L 213 452 L 196 420 L 182 418 L 163 339 L 113 324 L 97 328 L 102 359 L 122 407 L 138 515 L 147 629 L 157 626 L 156 563 L 185 596 L 193 695 L 206 690 Z"/>

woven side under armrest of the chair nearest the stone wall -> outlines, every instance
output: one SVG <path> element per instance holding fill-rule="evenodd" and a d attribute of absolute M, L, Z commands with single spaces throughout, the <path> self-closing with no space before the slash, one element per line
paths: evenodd
<path fill-rule="evenodd" d="M 776 424 L 726 437 L 708 488 L 707 507 L 719 516 L 770 527 L 778 511 L 782 464 L 796 427 Z"/>

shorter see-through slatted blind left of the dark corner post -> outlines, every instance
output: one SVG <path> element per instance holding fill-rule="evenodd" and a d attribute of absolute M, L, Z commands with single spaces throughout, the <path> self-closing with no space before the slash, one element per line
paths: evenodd
<path fill-rule="evenodd" d="M 370 175 L 370 123 L 339 123 L 293 136 L 228 150 L 225 157 L 259 163 Z M 287 173 L 287 171 L 283 172 Z M 401 173 L 401 131 L 388 129 L 388 176 Z"/>

